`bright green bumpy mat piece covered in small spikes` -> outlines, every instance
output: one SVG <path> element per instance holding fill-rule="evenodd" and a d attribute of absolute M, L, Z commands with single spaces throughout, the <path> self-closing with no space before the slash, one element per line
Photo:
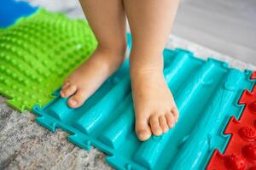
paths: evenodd
<path fill-rule="evenodd" d="M 39 9 L 0 31 L 0 94 L 18 111 L 45 105 L 65 77 L 90 57 L 96 38 L 83 20 Z"/>

